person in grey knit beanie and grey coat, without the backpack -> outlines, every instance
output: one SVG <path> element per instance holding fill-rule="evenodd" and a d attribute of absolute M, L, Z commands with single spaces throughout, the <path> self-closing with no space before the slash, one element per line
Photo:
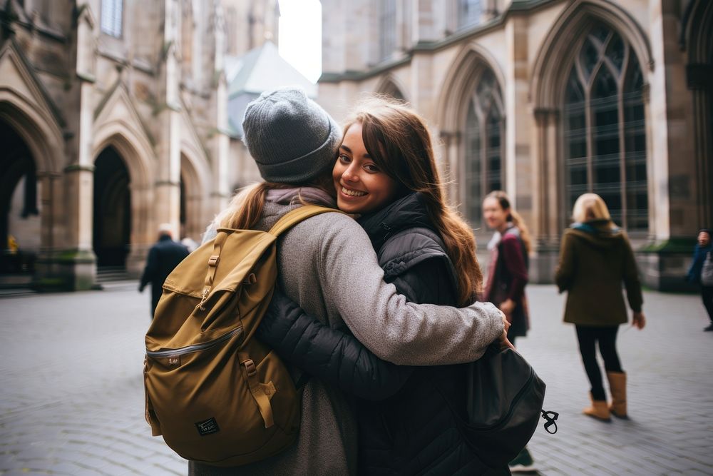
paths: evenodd
<path fill-rule="evenodd" d="M 267 231 L 304 203 L 334 208 L 344 200 L 335 201 L 332 176 L 342 135 L 304 91 L 283 88 L 262 93 L 247 106 L 243 128 L 265 182 L 236 196 L 206 238 L 218 226 Z M 342 193 L 354 201 L 371 202 L 377 193 L 377 188 L 366 190 L 349 183 L 353 186 Z M 344 213 L 322 213 L 302 221 L 278 238 L 279 289 L 314 316 L 323 330 L 353 333 L 373 350 L 374 359 L 401 365 L 462 363 L 479 358 L 493 340 L 504 340 L 503 317 L 488 303 L 473 303 L 466 309 L 406 303 L 394 285 L 384 283 L 384 270 L 369 238 Z M 275 303 L 279 307 L 279 299 Z M 287 363 L 295 364 L 289 359 Z M 356 422 L 347 395 L 317 373 L 302 378 L 302 370 L 290 368 L 298 385 L 306 381 L 299 385 L 302 423 L 297 442 L 267 460 L 239 468 L 190 462 L 190 475 L 356 472 Z M 386 372 L 391 372 L 384 375 L 389 385 L 399 382 L 402 374 L 396 365 Z"/>

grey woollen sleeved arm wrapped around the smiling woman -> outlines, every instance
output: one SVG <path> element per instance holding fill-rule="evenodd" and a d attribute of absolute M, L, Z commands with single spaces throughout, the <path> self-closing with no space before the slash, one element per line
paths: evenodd
<path fill-rule="evenodd" d="M 471 362 L 503 332 L 501 313 L 491 303 L 457 309 L 406 302 L 394 285 L 384 283 L 366 232 L 347 217 L 339 225 L 322 236 L 324 295 L 379 358 L 399 365 Z"/>

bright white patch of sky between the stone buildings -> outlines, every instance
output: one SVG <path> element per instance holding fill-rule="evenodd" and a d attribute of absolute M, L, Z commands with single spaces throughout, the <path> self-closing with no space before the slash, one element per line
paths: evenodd
<path fill-rule="evenodd" d="M 317 82 L 322 74 L 322 4 L 279 0 L 279 55 Z"/>

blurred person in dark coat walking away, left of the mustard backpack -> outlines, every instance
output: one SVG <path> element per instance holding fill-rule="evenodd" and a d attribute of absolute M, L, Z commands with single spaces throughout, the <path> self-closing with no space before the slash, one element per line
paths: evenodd
<path fill-rule="evenodd" d="M 172 226 L 170 223 L 162 223 L 158 227 L 158 242 L 148 250 L 146 267 L 141 275 L 141 282 L 138 292 L 143 293 L 143 288 L 151 283 L 151 319 L 156 312 L 156 305 L 163 293 L 163 282 L 168 278 L 173 268 L 188 256 L 188 248 L 180 243 L 176 243 L 171 238 Z"/>

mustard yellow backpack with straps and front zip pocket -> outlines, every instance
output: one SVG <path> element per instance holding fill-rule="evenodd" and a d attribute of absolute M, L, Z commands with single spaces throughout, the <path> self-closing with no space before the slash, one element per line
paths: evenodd
<path fill-rule="evenodd" d="M 269 232 L 219 228 L 166 278 L 146 334 L 146 420 L 181 457 L 245 465 L 297 437 L 292 378 L 252 336 L 275 288 L 277 236 L 328 211 L 301 206 Z"/>

